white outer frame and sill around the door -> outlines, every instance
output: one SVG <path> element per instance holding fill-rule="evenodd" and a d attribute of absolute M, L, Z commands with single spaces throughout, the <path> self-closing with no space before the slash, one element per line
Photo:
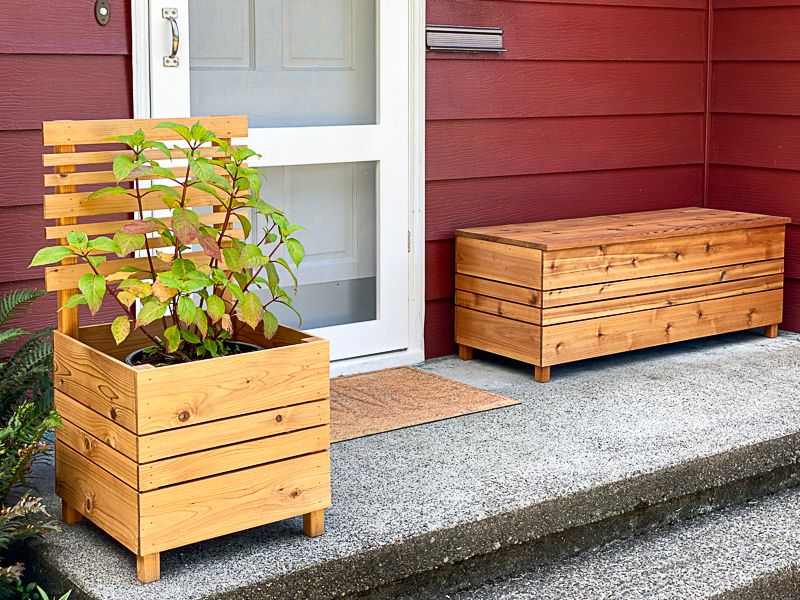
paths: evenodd
<path fill-rule="evenodd" d="M 409 365 L 424 359 L 425 322 L 425 0 L 408 0 L 409 48 L 409 302 L 406 350 L 331 363 L 331 376 Z M 150 117 L 149 0 L 131 1 L 134 118 Z"/>

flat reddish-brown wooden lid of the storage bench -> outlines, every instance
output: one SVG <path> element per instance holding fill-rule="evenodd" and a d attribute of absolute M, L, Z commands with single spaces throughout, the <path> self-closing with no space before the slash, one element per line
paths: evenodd
<path fill-rule="evenodd" d="M 459 229 L 456 230 L 456 236 L 548 252 L 590 246 L 600 246 L 602 250 L 610 244 L 650 242 L 698 234 L 711 235 L 736 229 L 760 229 L 782 225 L 788 221 L 786 217 L 689 207 Z"/>

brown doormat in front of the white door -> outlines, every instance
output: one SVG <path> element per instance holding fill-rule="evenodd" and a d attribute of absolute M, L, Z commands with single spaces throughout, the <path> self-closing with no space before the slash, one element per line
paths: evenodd
<path fill-rule="evenodd" d="M 331 380 L 331 442 L 519 404 L 413 367 Z"/>

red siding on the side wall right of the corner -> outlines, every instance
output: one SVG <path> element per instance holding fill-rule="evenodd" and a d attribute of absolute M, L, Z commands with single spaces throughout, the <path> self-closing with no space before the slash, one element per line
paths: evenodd
<path fill-rule="evenodd" d="M 775 6 L 784 4 L 784 6 Z M 715 0 L 708 205 L 791 217 L 781 328 L 800 331 L 800 5 Z"/>

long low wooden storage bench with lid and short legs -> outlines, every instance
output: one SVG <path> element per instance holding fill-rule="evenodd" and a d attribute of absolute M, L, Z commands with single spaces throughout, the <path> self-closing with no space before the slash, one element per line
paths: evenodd
<path fill-rule="evenodd" d="M 456 343 L 550 367 L 765 327 L 788 218 L 703 208 L 456 231 Z"/>

